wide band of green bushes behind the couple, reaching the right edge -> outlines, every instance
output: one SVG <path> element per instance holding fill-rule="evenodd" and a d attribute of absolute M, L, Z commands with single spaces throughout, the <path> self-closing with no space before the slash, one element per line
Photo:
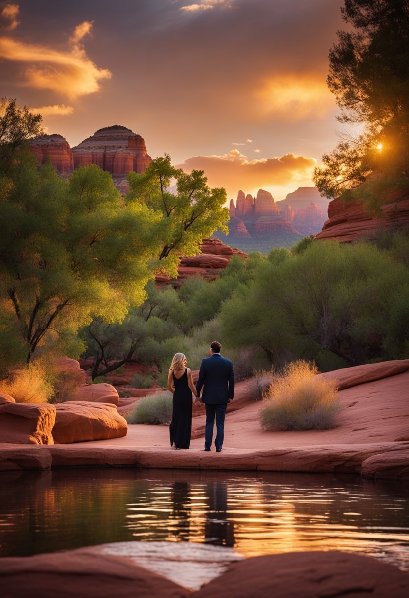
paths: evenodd
<path fill-rule="evenodd" d="M 145 303 L 127 316 L 131 329 L 148 329 L 134 359 L 151 365 L 165 385 L 176 352 L 196 370 L 215 338 L 233 359 L 237 379 L 297 359 L 330 371 L 409 358 L 408 266 L 405 234 L 379 234 L 376 243 L 354 246 L 307 238 L 292 251 L 234 257 L 214 282 L 192 277 L 179 289 L 149 283 Z M 112 361 L 129 350 L 127 322 L 103 325 L 115 329 Z M 97 355 L 88 329 L 83 338 L 87 355 Z"/>

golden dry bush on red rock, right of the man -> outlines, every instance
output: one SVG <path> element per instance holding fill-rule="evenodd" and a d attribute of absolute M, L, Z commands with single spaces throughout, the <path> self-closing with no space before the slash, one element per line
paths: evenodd
<path fill-rule="evenodd" d="M 264 392 L 260 425 L 267 430 L 326 430 L 334 428 L 338 410 L 332 380 L 316 377 L 315 365 L 297 361 L 277 374 Z"/>

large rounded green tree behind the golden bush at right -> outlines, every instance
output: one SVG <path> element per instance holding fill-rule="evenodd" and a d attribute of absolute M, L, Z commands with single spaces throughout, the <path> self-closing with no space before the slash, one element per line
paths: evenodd
<path fill-rule="evenodd" d="M 258 347 L 274 365 L 303 358 L 321 369 L 404 353 L 409 271 L 403 264 L 365 243 L 312 243 L 301 254 L 277 257 L 261 263 L 254 283 L 222 307 L 222 331 L 233 346 Z"/>

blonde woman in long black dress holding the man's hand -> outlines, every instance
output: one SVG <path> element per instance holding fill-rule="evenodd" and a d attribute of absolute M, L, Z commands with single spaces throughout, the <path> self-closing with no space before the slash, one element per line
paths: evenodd
<path fill-rule="evenodd" d="M 192 405 L 196 396 L 190 368 L 184 353 L 176 353 L 167 374 L 167 389 L 173 394 L 172 422 L 169 426 L 172 449 L 188 449 L 192 429 Z"/>

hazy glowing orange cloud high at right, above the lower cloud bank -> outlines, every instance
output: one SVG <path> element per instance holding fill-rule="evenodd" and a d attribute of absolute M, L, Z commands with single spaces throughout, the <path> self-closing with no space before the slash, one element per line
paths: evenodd
<path fill-rule="evenodd" d="M 335 106 L 325 79 L 313 75 L 269 78 L 255 91 L 255 99 L 264 116 L 277 115 L 293 122 L 312 115 L 323 117 Z"/>

